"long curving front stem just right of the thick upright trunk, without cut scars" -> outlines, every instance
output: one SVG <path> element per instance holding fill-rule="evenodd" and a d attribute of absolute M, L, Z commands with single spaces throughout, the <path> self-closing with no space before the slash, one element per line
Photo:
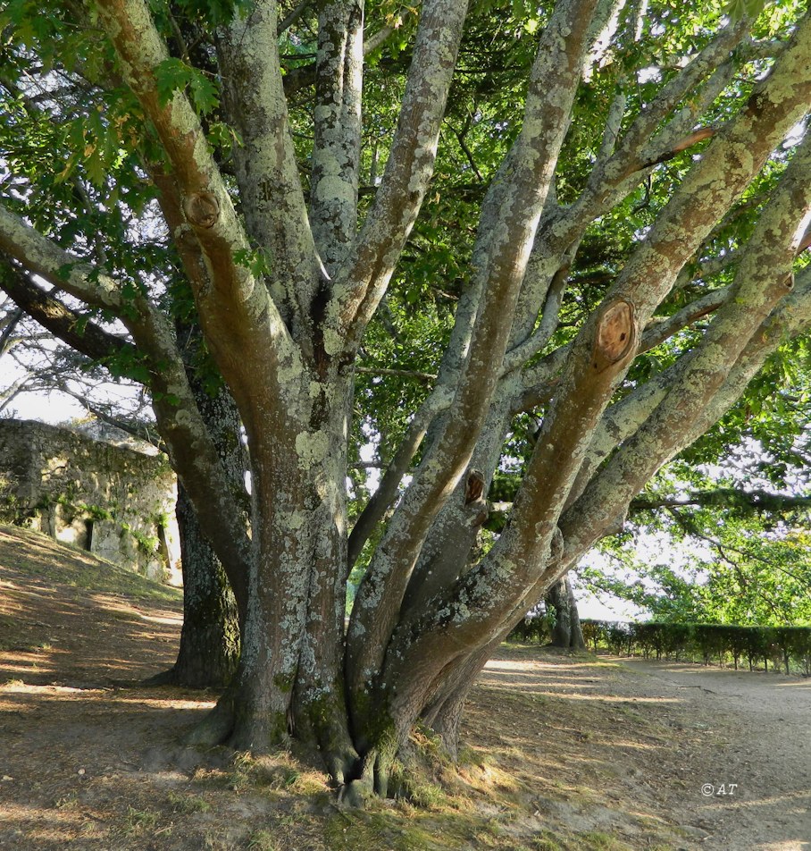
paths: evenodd
<path fill-rule="evenodd" d="M 480 251 L 481 265 L 474 274 L 485 295 L 456 400 L 389 522 L 355 601 L 347 659 L 356 687 L 363 687 L 379 670 L 424 537 L 463 475 L 487 416 L 515 299 L 580 80 L 595 2 L 558 4 L 541 39 L 522 132 L 508 155 L 501 184 L 489 192 L 489 209 L 482 212 L 479 240 L 487 251 Z"/>

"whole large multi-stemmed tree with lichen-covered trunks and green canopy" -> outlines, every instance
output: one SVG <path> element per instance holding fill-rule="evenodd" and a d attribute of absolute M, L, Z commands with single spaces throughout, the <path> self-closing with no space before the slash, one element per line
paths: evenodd
<path fill-rule="evenodd" d="M 237 597 L 196 740 L 292 733 L 353 799 L 420 719 L 455 749 L 502 637 L 807 332 L 811 15 L 759 6 L 7 4 L 2 286 L 121 321 Z M 421 299 L 453 324 L 350 528 L 366 342 Z M 179 319 L 247 434 L 248 524 Z"/>

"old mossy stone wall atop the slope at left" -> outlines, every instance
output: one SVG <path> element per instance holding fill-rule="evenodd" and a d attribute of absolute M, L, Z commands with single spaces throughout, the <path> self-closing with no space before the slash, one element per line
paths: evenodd
<path fill-rule="evenodd" d="M 0 521 L 174 581 L 176 498 L 175 476 L 161 455 L 68 428 L 0 419 Z"/>

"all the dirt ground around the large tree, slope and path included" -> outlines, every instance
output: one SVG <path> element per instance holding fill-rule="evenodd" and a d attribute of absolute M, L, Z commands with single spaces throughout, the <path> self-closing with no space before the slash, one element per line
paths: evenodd
<path fill-rule="evenodd" d="M 173 661 L 180 595 L 0 527 L 0 848 L 811 851 L 811 682 L 505 646 L 459 766 L 366 811 L 285 753 L 180 745 L 216 695 Z"/>

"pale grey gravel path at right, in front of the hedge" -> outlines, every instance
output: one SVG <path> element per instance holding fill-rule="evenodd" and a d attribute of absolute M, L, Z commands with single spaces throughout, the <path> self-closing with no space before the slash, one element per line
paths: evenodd
<path fill-rule="evenodd" d="M 719 734 L 693 754 L 693 794 L 665 798 L 706 831 L 704 847 L 811 848 L 811 681 L 639 659 L 623 664 L 645 675 L 639 684 L 646 694 L 680 700 Z"/>

